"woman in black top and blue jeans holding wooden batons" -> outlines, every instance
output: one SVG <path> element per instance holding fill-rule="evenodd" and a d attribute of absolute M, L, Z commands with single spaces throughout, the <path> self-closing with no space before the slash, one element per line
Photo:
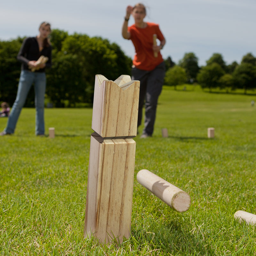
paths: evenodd
<path fill-rule="evenodd" d="M 50 68 L 52 62 L 52 46 L 48 39 L 50 32 L 51 25 L 44 21 L 40 24 L 39 34 L 35 37 L 27 37 L 22 43 L 17 56 L 22 63 L 18 92 L 7 126 L 1 135 L 14 133 L 20 111 L 33 83 L 35 86 L 36 135 L 44 135 L 45 68 Z M 47 57 L 48 61 L 46 63 L 36 62 L 40 56 Z"/>

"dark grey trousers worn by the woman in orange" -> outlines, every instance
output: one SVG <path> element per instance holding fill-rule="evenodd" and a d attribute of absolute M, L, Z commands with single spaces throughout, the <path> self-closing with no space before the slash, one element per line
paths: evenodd
<path fill-rule="evenodd" d="M 145 122 L 143 133 L 152 135 L 156 120 L 156 106 L 162 91 L 165 63 L 162 62 L 151 71 L 132 68 L 132 80 L 140 81 L 138 127 L 141 124 L 142 108 L 145 103 Z"/>

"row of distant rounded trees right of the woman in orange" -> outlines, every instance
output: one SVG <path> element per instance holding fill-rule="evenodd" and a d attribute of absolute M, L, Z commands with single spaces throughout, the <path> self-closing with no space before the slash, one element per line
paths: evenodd
<path fill-rule="evenodd" d="M 249 52 L 243 56 L 240 64 L 234 61 L 227 65 L 220 53 L 213 53 L 206 65 L 199 67 L 195 53 L 185 53 L 177 65 L 172 63 L 172 67 L 166 71 L 165 84 L 176 86 L 194 82 L 210 91 L 216 88 L 226 92 L 243 89 L 244 93 L 254 90 L 256 58 Z"/>

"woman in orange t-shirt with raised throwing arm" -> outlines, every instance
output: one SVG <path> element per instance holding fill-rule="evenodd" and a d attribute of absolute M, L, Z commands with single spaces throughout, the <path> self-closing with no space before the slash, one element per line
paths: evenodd
<path fill-rule="evenodd" d="M 128 27 L 132 14 L 135 24 Z M 124 39 L 132 40 L 135 56 L 132 66 L 132 80 L 140 81 L 140 99 L 138 127 L 141 124 L 142 108 L 145 101 L 145 122 L 141 138 L 151 137 L 156 119 L 156 106 L 162 91 L 165 75 L 165 64 L 160 53 L 165 44 L 165 38 L 155 23 L 145 22 L 146 8 L 143 4 L 134 7 L 127 6 L 122 27 Z M 156 35 L 160 45 L 153 45 L 153 35 Z"/>

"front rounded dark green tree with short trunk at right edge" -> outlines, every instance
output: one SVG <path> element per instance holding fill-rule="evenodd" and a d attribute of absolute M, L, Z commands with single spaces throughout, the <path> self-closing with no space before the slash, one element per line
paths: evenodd
<path fill-rule="evenodd" d="M 256 66 L 251 63 L 242 62 L 236 67 L 233 77 L 237 88 L 244 89 L 246 94 L 248 89 L 256 87 Z"/>

